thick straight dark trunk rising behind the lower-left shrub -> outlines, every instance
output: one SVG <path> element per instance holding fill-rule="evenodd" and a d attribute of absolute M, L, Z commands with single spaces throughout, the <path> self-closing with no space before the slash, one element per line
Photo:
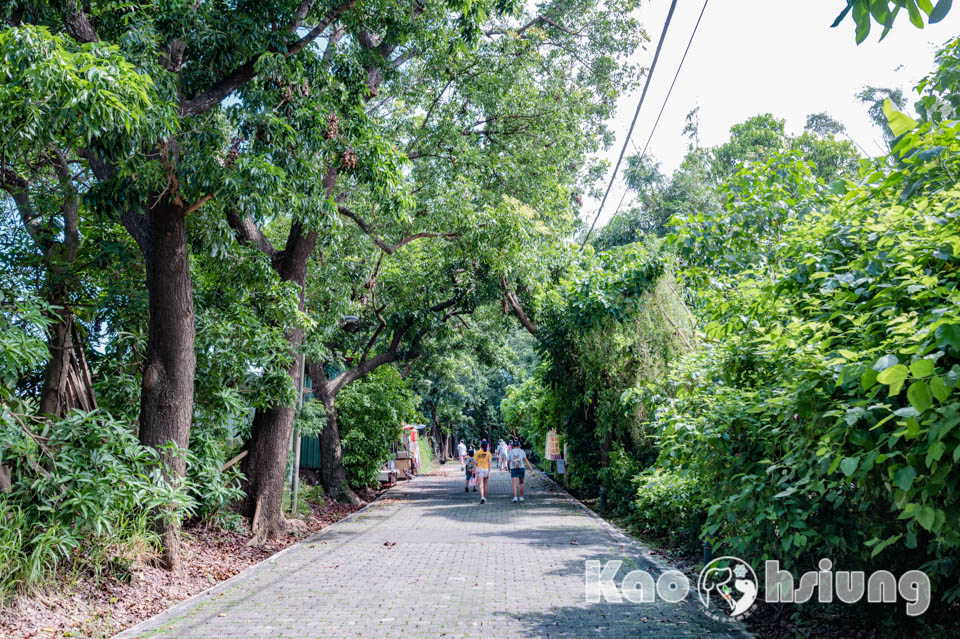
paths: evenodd
<path fill-rule="evenodd" d="M 150 240 L 144 253 L 150 331 L 140 397 L 140 441 L 162 451 L 167 481 L 179 485 L 186 460 L 169 446 L 186 449 L 190 443 L 197 368 L 186 216 L 180 207 L 161 204 L 151 209 L 148 217 Z M 173 513 L 163 511 L 157 514 L 156 523 L 163 542 L 163 564 L 179 571 L 178 522 Z"/>

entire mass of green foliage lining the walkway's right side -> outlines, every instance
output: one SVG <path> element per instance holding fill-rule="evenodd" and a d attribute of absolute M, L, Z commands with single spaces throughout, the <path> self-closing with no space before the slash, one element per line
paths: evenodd
<path fill-rule="evenodd" d="M 571 487 L 690 552 L 919 568 L 960 597 L 957 47 L 919 122 L 880 103 L 889 157 L 857 161 L 817 114 L 793 138 L 734 126 L 671 178 L 631 162 L 636 206 L 545 305 L 542 363 L 503 402 L 529 438 L 561 432 Z"/>

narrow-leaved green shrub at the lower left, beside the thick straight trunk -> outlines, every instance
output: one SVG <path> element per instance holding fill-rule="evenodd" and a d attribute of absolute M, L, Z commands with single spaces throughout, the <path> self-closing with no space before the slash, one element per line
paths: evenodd
<path fill-rule="evenodd" d="M 183 487 L 162 476 L 156 451 L 124 422 L 94 411 L 27 426 L 0 413 L 0 462 L 12 491 L 0 495 L 0 597 L 29 589 L 60 568 L 120 576 L 153 553 L 151 512 L 191 512 Z"/>

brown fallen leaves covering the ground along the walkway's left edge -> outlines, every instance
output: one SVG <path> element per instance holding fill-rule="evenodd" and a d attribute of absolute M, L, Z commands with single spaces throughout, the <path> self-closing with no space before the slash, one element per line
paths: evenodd
<path fill-rule="evenodd" d="M 376 493 L 361 494 L 365 501 Z M 0 611 L 0 638 L 104 639 L 166 608 L 203 592 L 263 561 L 287 546 L 335 523 L 358 506 L 341 503 L 314 505 L 304 527 L 272 542 L 248 546 L 248 531 L 189 528 L 183 531 L 184 570 L 174 575 L 153 566 L 132 571 L 130 583 L 115 579 L 95 581 L 81 576 L 62 578 L 43 591 L 20 597 Z"/>

